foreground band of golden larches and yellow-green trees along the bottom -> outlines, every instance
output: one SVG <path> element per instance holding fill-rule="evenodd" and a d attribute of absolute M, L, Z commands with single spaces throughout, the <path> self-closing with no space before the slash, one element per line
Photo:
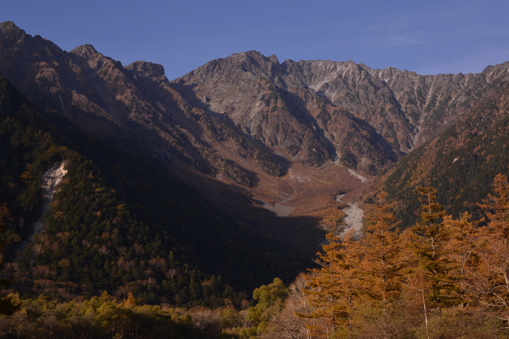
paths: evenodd
<path fill-rule="evenodd" d="M 418 221 L 401 231 L 387 195 L 375 197 L 360 240 L 329 234 L 321 266 L 290 286 L 274 279 L 248 303 L 211 309 L 140 305 L 128 293 L 103 292 L 70 302 L 19 299 L 0 330 L 36 338 L 505 338 L 509 336 L 509 182 L 499 174 L 483 205 L 486 226 L 465 212 L 454 218 L 436 202 L 437 190 L 419 187 Z M 246 309 L 247 307 L 247 309 Z M 156 325 L 157 324 L 157 325 Z"/>

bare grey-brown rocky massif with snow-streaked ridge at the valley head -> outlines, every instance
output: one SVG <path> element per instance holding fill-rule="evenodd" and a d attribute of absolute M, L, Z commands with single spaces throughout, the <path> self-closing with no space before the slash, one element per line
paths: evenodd
<path fill-rule="evenodd" d="M 292 160 L 327 159 L 374 172 L 461 119 L 509 63 L 479 74 L 418 75 L 353 61 L 293 61 L 237 53 L 173 81 L 193 105 Z"/>

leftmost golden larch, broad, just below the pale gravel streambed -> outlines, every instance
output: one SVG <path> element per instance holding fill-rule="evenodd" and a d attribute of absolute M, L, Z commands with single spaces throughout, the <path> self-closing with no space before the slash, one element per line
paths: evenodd
<path fill-rule="evenodd" d="M 318 253 L 316 260 L 322 267 L 307 276 L 308 291 L 312 294 L 310 302 L 316 306 L 315 312 L 307 317 L 328 317 L 333 327 L 353 326 L 353 312 L 361 293 L 362 253 L 354 232 L 351 229 L 343 239 L 327 234 L 329 243 L 323 245 L 324 253 Z"/>

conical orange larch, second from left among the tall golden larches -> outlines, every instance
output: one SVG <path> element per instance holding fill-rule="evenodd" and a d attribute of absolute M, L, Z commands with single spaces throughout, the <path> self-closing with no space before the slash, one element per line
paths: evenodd
<path fill-rule="evenodd" d="M 367 273 L 364 293 L 388 312 L 401 291 L 400 278 L 408 256 L 402 248 L 398 224 L 387 203 L 387 194 L 376 197 L 376 205 L 364 227 L 362 269 Z"/>

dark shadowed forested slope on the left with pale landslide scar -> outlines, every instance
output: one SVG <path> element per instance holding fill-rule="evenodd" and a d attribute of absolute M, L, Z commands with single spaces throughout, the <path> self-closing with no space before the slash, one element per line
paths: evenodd
<path fill-rule="evenodd" d="M 52 112 L 41 115 L 1 81 L 4 274 L 14 274 L 19 293 L 65 300 L 106 290 L 144 303 L 240 304 L 247 295 L 225 284 L 249 290 L 302 265 L 283 245 L 240 231 L 156 157 L 88 137 Z M 67 174 L 30 241 L 41 176 L 62 163 Z"/>

